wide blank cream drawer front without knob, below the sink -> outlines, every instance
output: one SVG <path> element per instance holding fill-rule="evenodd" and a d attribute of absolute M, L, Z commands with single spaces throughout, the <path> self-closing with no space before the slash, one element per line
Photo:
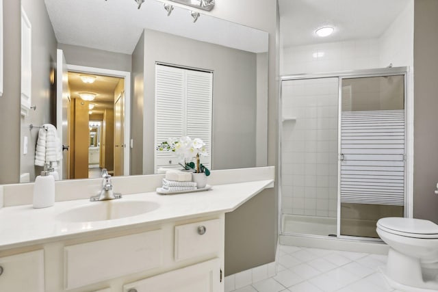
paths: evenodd
<path fill-rule="evenodd" d="M 162 230 L 64 248 L 64 280 L 73 289 L 162 265 Z"/>

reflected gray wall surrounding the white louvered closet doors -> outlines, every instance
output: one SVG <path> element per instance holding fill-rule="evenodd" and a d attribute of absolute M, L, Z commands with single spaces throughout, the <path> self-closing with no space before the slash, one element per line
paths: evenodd
<path fill-rule="evenodd" d="M 143 169 L 146 174 L 154 172 L 155 62 L 214 71 L 212 168 L 255 166 L 255 53 L 145 29 L 144 59 Z"/>

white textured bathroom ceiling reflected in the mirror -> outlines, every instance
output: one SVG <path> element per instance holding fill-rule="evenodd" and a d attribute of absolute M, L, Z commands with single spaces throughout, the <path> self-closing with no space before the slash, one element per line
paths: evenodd
<path fill-rule="evenodd" d="M 196 23 L 190 10 L 146 0 L 140 10 L 134 0 L 44 0 L 62 44 L 131 54 L 144 28 L 255 53 L 268 51 L 268 34 L 201 14 Z"/>

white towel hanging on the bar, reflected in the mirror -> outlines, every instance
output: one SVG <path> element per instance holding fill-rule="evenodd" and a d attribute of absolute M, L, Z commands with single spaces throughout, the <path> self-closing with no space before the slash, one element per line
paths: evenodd
<path fill-rule="evenodd" d="M 56 127 L 53 124 L 44 124 L 45 129 L 38 132 L 38 140 L 35 150 L 35 165 L 43 166 L 44 163 L 53 162 L 56 168 L 57 161 L 62 160 L 61 140 L 57 136 Z"/>

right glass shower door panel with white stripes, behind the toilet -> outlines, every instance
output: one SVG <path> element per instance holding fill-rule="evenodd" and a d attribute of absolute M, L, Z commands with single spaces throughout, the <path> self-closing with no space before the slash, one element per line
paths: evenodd
<path fill-rule="evenodd" d="M 404 75 L 342 79 L 340 235 L 378 237 L 381 217 L 403 217 Z"/>

